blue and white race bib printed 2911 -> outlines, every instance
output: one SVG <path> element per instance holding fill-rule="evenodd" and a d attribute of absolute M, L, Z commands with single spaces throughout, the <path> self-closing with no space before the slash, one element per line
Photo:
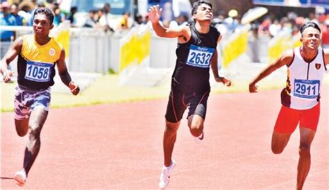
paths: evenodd
<path fill-rule="evenodd" d="M 300 98 L 317 98 L 320 92 L 320 80 L 295 79 L 294 96 Z"/>

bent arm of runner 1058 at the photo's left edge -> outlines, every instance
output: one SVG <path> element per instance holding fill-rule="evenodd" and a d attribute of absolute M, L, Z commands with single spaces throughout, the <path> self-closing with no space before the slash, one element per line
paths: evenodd
<path fill-rule="evenodd" d="M 11 80 L 11 77 L 14 75 L 14 72 L 8 70 L 8 65 L 12 60 L 16 58 L 16 56 L 21 53 L 23 46 L 23 38 L 19 37 L 15 42 L 12 43 L 10 48 L 8 49 L 5 56 L 3 56 L 1 60 L 1 74 L 3 75 L 3 82 L 8 83 Z"/>

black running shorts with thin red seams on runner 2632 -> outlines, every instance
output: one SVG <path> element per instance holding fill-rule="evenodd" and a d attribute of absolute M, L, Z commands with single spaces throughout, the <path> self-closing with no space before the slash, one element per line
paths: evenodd
<path fill-rule="evenodd" d="M 190 115 L 196 114 L 205 119 L 209 92 L 185 93 L 178 90 L 171 90 L 165 116 L 166 120 L 171 123 L 177 123 L 182 119 L 187 107 L 189 107 L 187 118 Z"/>

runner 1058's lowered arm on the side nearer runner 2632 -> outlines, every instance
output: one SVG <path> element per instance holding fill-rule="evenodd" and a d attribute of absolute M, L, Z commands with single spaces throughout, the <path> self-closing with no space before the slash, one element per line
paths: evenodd
<path fill-rule="evenodd" d="M 67 71 L 66 63 L 65 63 L 65 50 L 62 49 L 60 52 L 60 59 L 57 61 L 58 74 L 62 83 L 67 85 L 71 90 L 71 93 L 76 95 L 80 92 L 80 88 L 78 85 L 75 85 L 71 80 L 71 76 L 69 75 L 69 71 Z"/>

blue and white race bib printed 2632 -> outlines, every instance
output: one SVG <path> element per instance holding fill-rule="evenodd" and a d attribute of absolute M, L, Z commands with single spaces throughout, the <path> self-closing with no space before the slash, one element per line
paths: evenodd
<path fill-rule="evenodd" d="M 189 46 L 189 55 L 187 57 L 187 63 L 190 66 L 209 68 L 210 59 L 215 49 L 191 45 Z"/>

